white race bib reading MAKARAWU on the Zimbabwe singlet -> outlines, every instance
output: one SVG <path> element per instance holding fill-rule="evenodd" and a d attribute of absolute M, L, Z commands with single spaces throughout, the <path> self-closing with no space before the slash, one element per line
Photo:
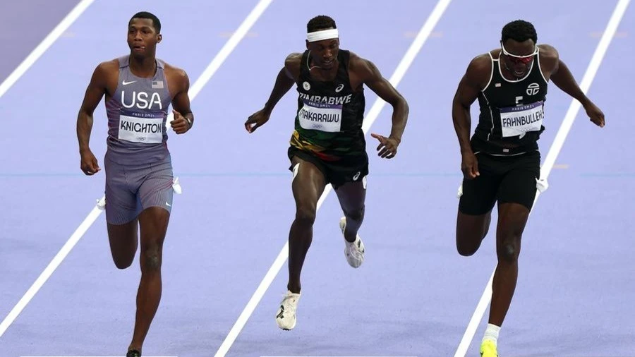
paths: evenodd
<path fill-rule="evenodd" d="M 303 101 L 304 106 L 298 112 L 300 126 L 309 130 L 338 133 L 341 129 L 342 104 L 324 104 Z"/>

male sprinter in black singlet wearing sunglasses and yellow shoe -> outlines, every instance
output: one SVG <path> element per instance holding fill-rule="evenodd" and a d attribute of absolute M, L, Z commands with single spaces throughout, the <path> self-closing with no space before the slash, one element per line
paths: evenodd
<path fill-rule="evenodd" d="M 498 356 L 498 332 L 516 288 L 521 236 L 540 178 L 536 141 L 545 130 L 548 80 L 579 100 L 593 123 L 604 126 L 604 114 L 580 90 L 556 49 L 536 45 L 536 40 L 531 23 L 516 20 L 505 25 L 501 48 L 471 61 L 452 102 L 464 174 L 456 221 L 456 248 L 461 255 L 478 250 L 498 201 L 498 265 L 489 324 L 480 346 L 483 357 Z M 477 98 L 480 116 L 470 140 L 470 106 Z"/>

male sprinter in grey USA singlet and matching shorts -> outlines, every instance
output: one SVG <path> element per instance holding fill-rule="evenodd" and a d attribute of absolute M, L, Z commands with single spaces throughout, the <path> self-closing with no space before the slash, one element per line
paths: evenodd
<path fill-rule="evenodd" d="M 185 71 L 156 58 L 161 23 L 152 13 L 136 13 L 128 22 L 131 54 L 100 63 L 95 69 L 77 120 L 81 169 L 100 169 L 89 147 L 92 114 L 106 96 L 108 115 L 106 220 L 116 267 L 129 267 L 137 251 L 140 229 L 141 281 L 135 328 L 127 357 L 141 356 L 161 298 L 162 247 L 172 207 L 172 164 L 166 120 L 174 108 L 172 129 L 183 134 L 194 116 Z"/>

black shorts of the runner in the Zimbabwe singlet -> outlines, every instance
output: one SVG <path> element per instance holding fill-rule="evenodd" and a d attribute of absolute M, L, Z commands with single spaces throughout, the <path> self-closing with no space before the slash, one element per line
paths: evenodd
<path fill-rule="evenodd" d="M 362 181 L 368 175 L 368 154 L 366 152 L 363 155 L 343 157 L 338 161 L 329 162 L 312 155 L 310 152 L 291 146 L 287 155 L 289 155 L 289 160 L 291 160 L 289 170 L 293 171 L 294 169 L 294 156 L 299 157 L 320 169 L 326 182 L 330 183 L 333 188 L 338 188 L 347 182 Z"/>

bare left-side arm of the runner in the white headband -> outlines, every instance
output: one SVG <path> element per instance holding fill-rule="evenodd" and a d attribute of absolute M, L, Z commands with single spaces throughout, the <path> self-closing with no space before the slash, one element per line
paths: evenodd
<path fill-rule="evenodd" d="M 302 54 L 294 53 L 289 54 L 284 61 L 284 67 L 279 71 L 276 78 L 274 88 L 265 103 L 265 107 L 251 114 L 245 122 L 245 128 L 248 133 L 253 133 L 260 126 L 265 125 L 271 116 L 271 113 L 278 104 L 279 100 L 284 97 L 286 92 L 289 92 L 294 83 L 300 78 L 300 61 L 302 60 Z"/>

